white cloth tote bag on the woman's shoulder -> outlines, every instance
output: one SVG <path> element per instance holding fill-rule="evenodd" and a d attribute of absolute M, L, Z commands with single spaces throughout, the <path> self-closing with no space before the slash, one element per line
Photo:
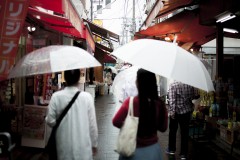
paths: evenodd
<path fill-rule="evenodd" d="M 132 156 L 136 149 L 138 117 L 134 117 L 133 114 L 133 98 L 130 97 L 128 115 L 117 139 L 116 152 L 126 157 Z"/>

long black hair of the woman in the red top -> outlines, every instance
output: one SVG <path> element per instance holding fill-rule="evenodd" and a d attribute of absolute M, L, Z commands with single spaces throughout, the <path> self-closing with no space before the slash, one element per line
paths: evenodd
<path fill-rule="evenodd" d="M 141 137 L 141 134 L 151 136 L 157 130 L 155 102 L 159 97 L 155 74 L 139 69 L 137 72 L 137 88 L 140 107 L 138 136 Z"/>

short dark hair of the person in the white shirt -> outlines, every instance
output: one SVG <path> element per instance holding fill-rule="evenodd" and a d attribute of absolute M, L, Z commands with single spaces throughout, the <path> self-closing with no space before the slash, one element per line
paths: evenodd
<path fill-rule="evenodd" d="M 80 79 L 80 69 L 64 71 L 64 79 L 68 86 L 77 84 Z"/>

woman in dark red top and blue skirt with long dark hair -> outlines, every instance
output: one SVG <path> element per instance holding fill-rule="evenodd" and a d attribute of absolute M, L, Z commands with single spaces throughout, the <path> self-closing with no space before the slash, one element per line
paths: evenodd
<path fill-rule="evenodd" d="M 137 148 L 132 157 L 120 155 L 119 160 L 161 160 L 157 131 L 165 132 L 168 115 L 165 103 L 159 98 L 154 73 L 139 69 L 136 85 L 138 95 L 133 100 L 134 116 L 139 117 Z M 130 98 L 127 98 L 113 117 L 113 125 L 121 128 L 128 113 Z"/>

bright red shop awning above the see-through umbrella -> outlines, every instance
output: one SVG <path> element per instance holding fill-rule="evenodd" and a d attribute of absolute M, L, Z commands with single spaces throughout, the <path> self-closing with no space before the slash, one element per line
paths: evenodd
<path fill-rule="evenodd" d="M 46 1 L 46 3 L 45 3 Z M 56 3 L 56 1 L 59 3 Z M 51 5 L 47 5 L 50 4 Z M 28 17 L 46 28 L 75 38 L 83 38 L 83 21 L 69 0 L 32 0 Z"/>

